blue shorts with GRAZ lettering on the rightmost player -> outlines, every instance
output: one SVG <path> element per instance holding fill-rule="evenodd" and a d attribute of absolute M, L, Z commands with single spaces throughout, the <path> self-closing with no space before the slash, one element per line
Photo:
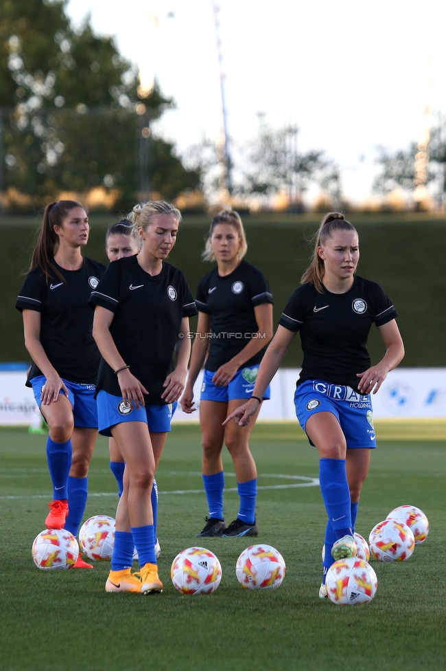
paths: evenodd
<path fill-rule="evenodd" d="M 340 423 L 347 448 L 376 448 L 370 394 L 361 396 L 343 384 L 307 380 L 296 388 L 294 405 L 304 431 L 308 418 L 316 412 L 331 412 Z"/>

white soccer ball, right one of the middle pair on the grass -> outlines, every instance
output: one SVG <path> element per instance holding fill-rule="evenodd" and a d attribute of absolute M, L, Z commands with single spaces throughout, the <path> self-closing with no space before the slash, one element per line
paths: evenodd
<path fill-rule="evenodd" d="M 245 589 L 281 586 L 286 573 L 283 557 L 271 545 L 251 545 L 237 559 L 235 575 Z"/>

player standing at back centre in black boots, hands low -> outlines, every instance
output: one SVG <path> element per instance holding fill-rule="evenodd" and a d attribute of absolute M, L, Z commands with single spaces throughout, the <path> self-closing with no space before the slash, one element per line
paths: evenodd
<path fill-rule="evenodd" d="M 242 428 L 222 427 L 228 413 L 253 393 L 259 363 L 272 337 L 272 295 L 263 274 L 243 261 L 247 245 L 237 212 L 222 210 L 213 219 L 202 254 L 217 266 L 198 285 L 197 336 L 181 405 L 193 412 L 193 384 L 204 361 L 200 396 L 202 473 L 209 505 L 206 525 L 197 536 L 257 536 L 255 520 L 257 470 L 248 446 L 253 423 Z M 262 399 L 269 399 L 263 389 Z M 260 404 L 258 404 L 260 406 Z M 255 419 L 259 412 L 256 408 Z M 226 443 L 234 462 L 240 505 L 227 527 L 223 516 L 224 472 L 222 448 Z"/>

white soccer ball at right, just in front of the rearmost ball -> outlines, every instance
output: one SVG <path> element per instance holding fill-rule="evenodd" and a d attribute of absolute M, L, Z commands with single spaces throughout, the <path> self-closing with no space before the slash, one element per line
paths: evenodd
<path fill-rule="evenodd" d="M 404 522 L 379 522 L 368 537 L 370 551 L 379 562 L 404 562 L 412 556 L 414 534 Z"/>

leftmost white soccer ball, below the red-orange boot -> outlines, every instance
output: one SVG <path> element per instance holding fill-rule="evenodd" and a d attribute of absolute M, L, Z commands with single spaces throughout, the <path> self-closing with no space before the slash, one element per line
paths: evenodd
<path fill-rule="evenodd" d="M 38 569 L 71 569 L 78 556 L 78 541 L 65 529 L 45 529 L 34 538 L 32 558 Z"/>

